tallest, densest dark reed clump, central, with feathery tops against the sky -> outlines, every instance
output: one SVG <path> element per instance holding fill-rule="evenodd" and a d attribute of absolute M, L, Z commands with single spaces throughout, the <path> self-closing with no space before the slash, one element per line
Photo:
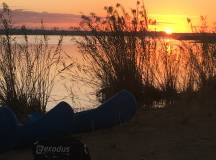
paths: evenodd
<path fill-rule="evenodd" d="M 121 4 L 105 7 L 105 11 L 105 18 L 94 13 L 82 16 L 81 29 L 91 31 L 93 36 L 84 36 L 77 41 L 85 60 L 92 64 L 89 71 L 100 80 L 98 99 L 103 102 L 127 89 L 140 102 L 152 104 L 160 97 L 160 91 L 154 85 L 151 63 L 156 41 L 131 34 L 148 30 L 144 3 L 138 1 L 136 9 L 130 13 Z"/>

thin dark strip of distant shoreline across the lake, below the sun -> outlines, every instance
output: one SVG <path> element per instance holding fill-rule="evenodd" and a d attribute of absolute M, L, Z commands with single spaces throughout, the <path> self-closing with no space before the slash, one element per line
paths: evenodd
<path fill-rule="evenodd" d="M 53 35 L 53 36 L 94 36 L 92 31 L 70 31 L 70 30 L 42 30 L 42 29 L 10 29 L 9 31 L 0 30 L 0 35 Z M 116 32 L 97 32 L 98 36 L 116 35 Z M 171 38 L 175 40 L 207 40 L 216 42 L 216 33 L 172 33 L 165 32 L 119 32 L 119 35 L 147 36 L 153 38 Z"/>

